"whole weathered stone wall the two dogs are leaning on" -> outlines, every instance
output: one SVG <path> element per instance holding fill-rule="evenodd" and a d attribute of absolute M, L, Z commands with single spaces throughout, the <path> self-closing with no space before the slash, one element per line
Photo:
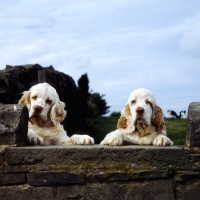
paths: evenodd
<path fill-rule="evenodd" d="M 192 116 L 198 116 L 197 110 L 200 114 L 199 105 L 189 106 L 186 146 L 45 147 L 2 142 L 0 199 L 197 200 L 200 148 L 193 145 L 192 135 L 200 123 Z M 21 116 L 23 110 L 15 112 Z M 2 112 L 9 113 L 7 105 Z M 2 130 L 0 141 L 4 134 L 17 135 L 15 130 Z"/>

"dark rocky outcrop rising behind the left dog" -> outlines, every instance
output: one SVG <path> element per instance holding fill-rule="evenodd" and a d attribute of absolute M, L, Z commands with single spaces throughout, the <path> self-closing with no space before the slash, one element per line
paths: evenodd
<path fill-rule="evenodd" d="M 63 125 L 68 135 L 85 131 L 87 102 L 82 91 L 69 75 L 54 70 L 52 66 L 35 65 L 7 65 L 0 70 L 0 103 L 16 104 L 22 92 L 38 83 L 38 74 L 45 72 L 45 82 L 51 84 L 57 91 L 60 100 L 65 102 L 67 117 Z"/>

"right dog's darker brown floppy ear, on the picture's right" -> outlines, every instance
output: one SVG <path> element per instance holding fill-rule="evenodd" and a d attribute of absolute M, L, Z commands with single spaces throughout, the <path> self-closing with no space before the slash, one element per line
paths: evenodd
<path fill-rule="evenodd" d="M 162 109 L 158 105 L 155 105 L 151 122 L 156 126 L 158 132 L 166 134 L 164 115 Z"/>

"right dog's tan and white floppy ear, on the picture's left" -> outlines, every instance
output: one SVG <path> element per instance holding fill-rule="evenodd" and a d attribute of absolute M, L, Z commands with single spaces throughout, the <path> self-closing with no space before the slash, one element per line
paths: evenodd
<path fill-rule="evenodd" d="M 121 112 L 121 116 L 117 123 L 117 128 L 122 129 L 126 132 L 133 132 L 135 130 L 135 125 L 131 119 L 131 111 L 129 105 L 126 104 Z"/>

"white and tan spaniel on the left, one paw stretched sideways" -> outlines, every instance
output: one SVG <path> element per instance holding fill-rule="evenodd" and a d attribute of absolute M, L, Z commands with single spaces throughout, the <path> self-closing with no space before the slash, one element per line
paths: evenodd
<path fill-rule="evenodd" d="M 48 83 L 39 83 L 25 91 L 19 104 L 29 111 L 28 143 L 33 145 L 94 144 L 88 135 L 70 138 L 60 122 L 65 118 L 65 104 L 59 100 L 56 90 Z"/>

